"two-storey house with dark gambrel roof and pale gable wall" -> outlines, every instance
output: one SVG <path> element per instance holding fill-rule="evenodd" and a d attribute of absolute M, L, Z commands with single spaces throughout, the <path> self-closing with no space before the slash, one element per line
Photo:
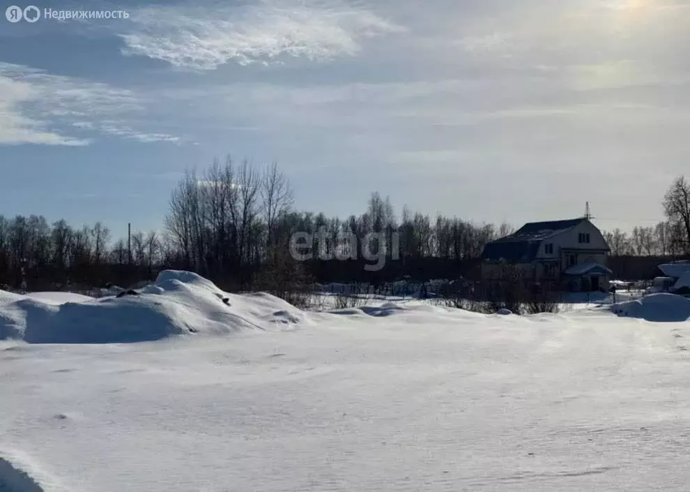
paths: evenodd
<path fill-rule="evenodd" d="M 611 249 L 588 218 L 532 222 L 507 237 L 491 241 L 482 253 L 482 278 L 505 280 L 506 265 L 526 283 L 550 284 L 574 291 L 608 289 Z"/>

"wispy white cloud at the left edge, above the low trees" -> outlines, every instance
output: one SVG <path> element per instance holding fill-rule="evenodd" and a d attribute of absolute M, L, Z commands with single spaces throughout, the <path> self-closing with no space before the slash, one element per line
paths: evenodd
<path fill-rule="evenodd" d="M 144 107 L 132 91 L 0 62 L 0 145 L 87 145 L 93 133 L 139 142 L 180 140 L 132 129 L 127 121 Z"/>

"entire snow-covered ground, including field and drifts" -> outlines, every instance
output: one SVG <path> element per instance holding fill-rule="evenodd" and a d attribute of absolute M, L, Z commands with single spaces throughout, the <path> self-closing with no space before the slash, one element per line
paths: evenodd
<path fill-rule="evenodd" d="M 620 317 L 302 313 L 159 280 L 0 292 L 0 333 L 61 342 L 0 342 L 0 491 L 688 489 L 690 325 L 643 319 L 681 319 L 675 297 Z"/>

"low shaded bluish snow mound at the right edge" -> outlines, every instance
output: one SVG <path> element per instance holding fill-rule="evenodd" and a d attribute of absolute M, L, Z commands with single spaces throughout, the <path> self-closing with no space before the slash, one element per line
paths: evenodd
<path fill-rule="evenodd" d="M 619 302 L 611 306 L 619 316 L 641 318 L 656 322 L 679 322 L 690 318 L 690 299 L 662 292 L 635 301 Z"/>

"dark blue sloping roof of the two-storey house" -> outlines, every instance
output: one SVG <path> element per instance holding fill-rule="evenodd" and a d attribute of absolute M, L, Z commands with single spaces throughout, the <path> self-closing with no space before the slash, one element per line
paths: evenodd
<path fill-rule="evenodd" d="M 567 221 L 526 223 L 509 236 L 486 244 L 482 252 L 482 260 L 530 262 L 537 257 L 539 245 L 544 239 L 572 229 L 586 220 L 586 218 L 573 218 Z"/>

